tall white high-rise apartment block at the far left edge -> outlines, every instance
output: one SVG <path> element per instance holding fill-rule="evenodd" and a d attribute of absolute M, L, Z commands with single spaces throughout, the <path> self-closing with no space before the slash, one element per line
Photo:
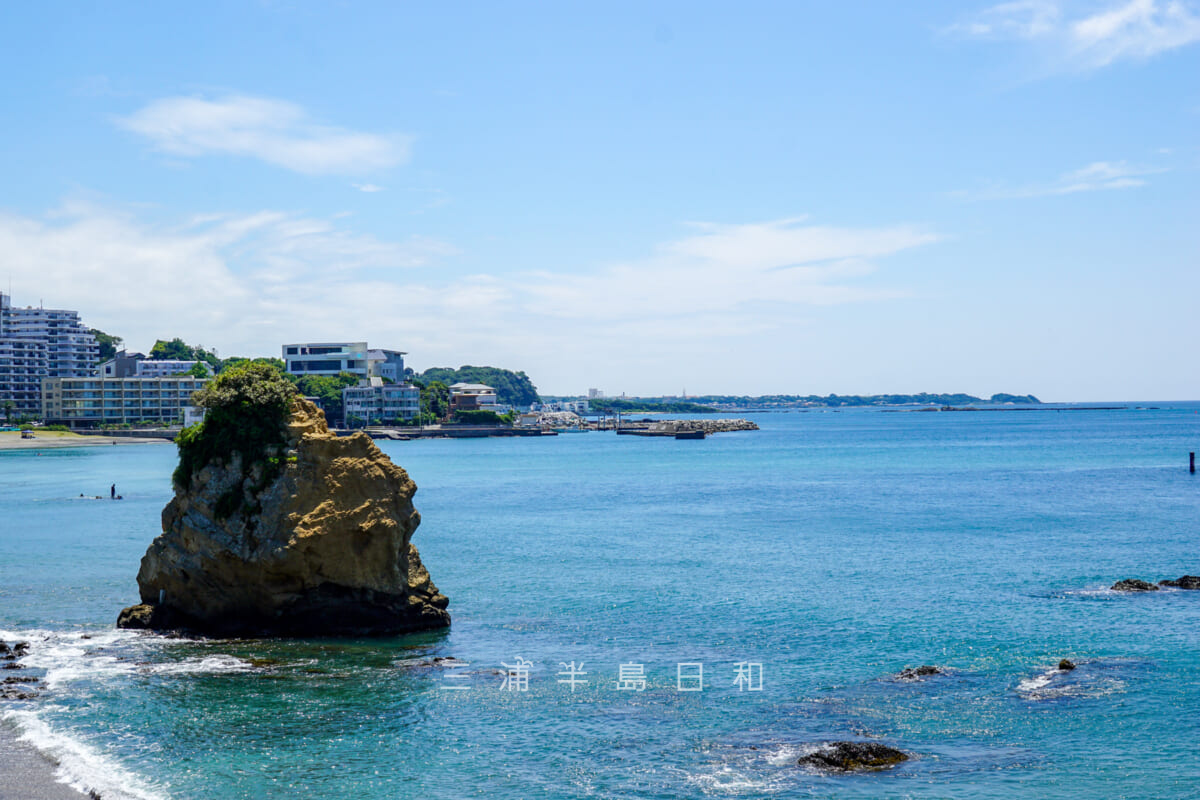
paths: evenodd
<path fill-rule="evenodd" d="M 98 356 L 96 337 L 78 312 L 14 308 L 0 293 L 0 404 L 11 402 L 16 414 L 37 415 L 44 378 L 91 375 Z"/>

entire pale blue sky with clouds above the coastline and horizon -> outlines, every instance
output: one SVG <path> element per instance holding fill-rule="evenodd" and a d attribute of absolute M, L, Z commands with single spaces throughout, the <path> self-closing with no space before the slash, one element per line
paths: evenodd
<path fill-rule="evenodd" d="M 2 14 L 0 281 L 133 349 L 1200 398 L 1194 0 Z"/>

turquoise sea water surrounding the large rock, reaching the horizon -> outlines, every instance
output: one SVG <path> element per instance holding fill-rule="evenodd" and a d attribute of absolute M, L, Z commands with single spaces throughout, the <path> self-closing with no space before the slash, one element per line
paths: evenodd
<path fill-rule="evenodd" d="M 0 453 L 0 637 L 48 685 L 0 714 L 106 800 L 1200 796 L 1200 593 L 1106 589 L 1200 573 L 1198 410 L 384 443 L 454 626 L 355 642 L 113 631 L 174 449 Z M 914 758 L 796 765 L 859 738 Z"/>

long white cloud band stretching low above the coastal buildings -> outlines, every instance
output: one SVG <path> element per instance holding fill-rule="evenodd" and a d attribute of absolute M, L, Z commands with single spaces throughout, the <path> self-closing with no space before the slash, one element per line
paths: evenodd
<path fill-rule="evenodd" d="M 482 361 L 570 386 L 592 369 L 698 368 L 721 350 L 786 341 L 779 332 L 803 325 L 806 308 L 904 296 L 876 264 L 938 240 L 910 225 L 704 223 L 619 264 L 454 275 L 445 242 L 347 224 L 275 210 L 155 224 L 67 203 L 43 217 L 0 213 L 0 266 L 18 302 L 78 308 L 132 348 L 181 336 L 263 355 L 287 341 L 366 338 L 416 366 Z M 587 342 L 586 363 L 564 342 Z"/>

